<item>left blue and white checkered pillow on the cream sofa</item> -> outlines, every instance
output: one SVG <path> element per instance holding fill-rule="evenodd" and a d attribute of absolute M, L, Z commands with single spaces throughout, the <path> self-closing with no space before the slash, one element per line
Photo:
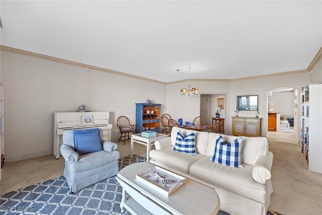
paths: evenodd
<path fill-rule="evenodd" d="M 173 148 L 174 151 L 183 152 L 190 155 L 197 155 L 196 147 L 195 147 L 195 133 L 191 131 L 186 137 L 183 133 L 178 130 L 176 145 Z"/>

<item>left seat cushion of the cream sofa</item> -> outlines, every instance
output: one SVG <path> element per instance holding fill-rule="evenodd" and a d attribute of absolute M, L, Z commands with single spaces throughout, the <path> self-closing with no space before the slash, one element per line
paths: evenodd
<path fill-rule="evenodd" d="M 177 169 L 183 173 L 189 173 L 190 165 L 204 157 L 200 154 L 191 156 L 185 153 L 178 153 L 172 149 L 173 147 L 168 147 L 162 150 L 152 150 L 150 151 L 150 158 L 170 168 Z"/>

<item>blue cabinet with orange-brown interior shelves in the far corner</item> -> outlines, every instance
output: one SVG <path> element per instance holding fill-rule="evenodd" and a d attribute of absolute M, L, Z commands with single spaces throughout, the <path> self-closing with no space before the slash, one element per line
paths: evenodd
<path fill-rule="evenodd" d="M 141 133 L 143 127 L 160 133 L 161 104 L 135 103 L 135 105 L 135 133 Z"/>

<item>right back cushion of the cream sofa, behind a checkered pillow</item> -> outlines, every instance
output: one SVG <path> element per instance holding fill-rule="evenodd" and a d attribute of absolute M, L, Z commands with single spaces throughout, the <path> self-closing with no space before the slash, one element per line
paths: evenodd
<path fill-rule="evenodd" d="M 221 134 L 223 138 L 228 142 L 233 141 L 236 136 Z M 208 145 L 207 145 L 207 156 L 213 156 L 215 151 L 216 139 L 219 136 L 217 133 L 209 133 Z M 243 136 L 243 147 L 241 147 L 241 163 L 254 165 L 257 159 L 266 155 L 268 152 L 268 142 L 265 137 L 246 137 Z M 198 139 L 196 138 L 196 141 Z M 197 150 L 198 152 L 198 150 Z"/>

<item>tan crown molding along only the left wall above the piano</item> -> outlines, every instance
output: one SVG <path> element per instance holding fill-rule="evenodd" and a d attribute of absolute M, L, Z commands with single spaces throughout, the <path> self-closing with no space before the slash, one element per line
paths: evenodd
<path fill-rule="evenodd" d="M 89 69 L 93 69 L 93 70 L 104 71 L 105 73 L 111 73 L 111 74 L 116 74 L 116 75 L 120 75 L 120 76 L 126 76 L 126 77 L 130 77 L 130 78 L 134 78 L 134 79 L 140 79 L 140 80 L 145 80 L 145 81 L 150 81 L 150 82 L 156 82 L 156 83 L 160 83 L 160 84 L 167 84 L 166 82 L 157 81 L 157 80 L 154 80 L 154 79 L 148 79 L 148 78 L 144 78 L 144 77 L 140 77 L 140 76 L 121 73 L 120 71 L 115 71 L 115 70 L 102 68 L 102 67 L 98 67 L 98 66 L 94 66 L 94 65 L 88 65 L 88 64 L 85 64 L 85 63 L 79 63 L 79 62 L 75 62 L 75 61 L 65 60 L 65 59 L 52 57 L 52 56 L 48 56 L 48 55 L 44 55 L 44 54 L 37 54 L 37 53 L 34 53 L 34 52 L 24 51 L 24 50 L 21 50 L 21 49 L 12 48 L 12 47 L 8 47 L 8 46 L 1 45 L 0 50 L 8 51 L 8 52 L 16 53 L 16 54 L 22 54 L 22 55 L 37 57 L 37 58 L 46 59 L 46 60 L 51 60 L 51 61 L 55 61 L 55 62 L 65 63 L 65 64 L 69 64 L 69 65 L 75 65 L 75 66 L 79 66 L 79 67 L 83 67 L 83 68 L 89 68 Z"/>

